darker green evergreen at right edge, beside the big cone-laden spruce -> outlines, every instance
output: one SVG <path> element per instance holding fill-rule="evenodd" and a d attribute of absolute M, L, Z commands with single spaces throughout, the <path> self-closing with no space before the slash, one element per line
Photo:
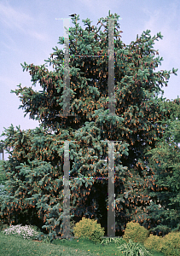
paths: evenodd
<path fill-rule="evenodd" d="M 165 105 L 171 116 L 165 122 L 164 136 L 146 154 L 149 156 L 148 166 L 154 169 L 157 186 L 149 193 L 153 201 L 146 210 L 148 218 L 154 218 L 158 223 L 151 231 L 160 230 L 162 236 L 170 230 L 180 230 L 180 99 L 165 102 Z"/>

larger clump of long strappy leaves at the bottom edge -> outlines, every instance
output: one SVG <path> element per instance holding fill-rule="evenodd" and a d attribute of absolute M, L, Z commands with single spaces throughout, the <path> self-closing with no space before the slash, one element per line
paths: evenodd
<path fill-rule="evenodd" d="M 129 243 L 125 243 L 123 245 L 121 245 L 120 247 L 118 247 L 119 250 L 122 253 L 126 253 L 127 256 L 136 256 L 136 255 L 146 255 L 146 256 L 153 256 L 153 254 L 149 253 L 146 248 L 142 247 L 142 245 L 133 242 L 133 241 L 129 241 Z M 146 253 L 146 254 L 144 254 Z"/>

